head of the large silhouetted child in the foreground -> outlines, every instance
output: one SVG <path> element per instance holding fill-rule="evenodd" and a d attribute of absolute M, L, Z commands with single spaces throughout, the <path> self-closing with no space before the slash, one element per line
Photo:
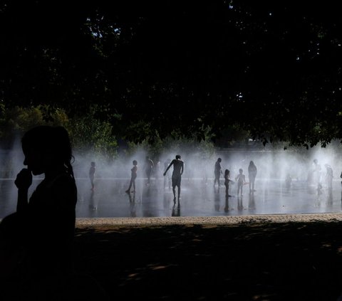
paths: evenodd
<path fill-rule="evenodd" d="M 31 169 L 32 174 L 43 174 L 48 169 L 63 167 L 73 175 L 71 142 L 64 127 L 33 127 L 24 134 L 21 145 L 25 155 L 24 165 Z"/>

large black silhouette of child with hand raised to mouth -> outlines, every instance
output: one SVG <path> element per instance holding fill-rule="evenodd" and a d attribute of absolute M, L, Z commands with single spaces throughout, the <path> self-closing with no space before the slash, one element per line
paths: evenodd
<path fill-rule="evenodd" d="M 21 144 L 27 168 L 14 181 L 16 212 L 0 223 L 1 278 L 14 280 L 13 293 L 24 286 L 27 300 L 37 294 L 39 300 L 55 300 L 58 285 L 73 273 L 77 189 L 71 143 L 63 127 L 39 126 L 28 130 Z M 28 200 L 32 175 L 41 174 Z"/>

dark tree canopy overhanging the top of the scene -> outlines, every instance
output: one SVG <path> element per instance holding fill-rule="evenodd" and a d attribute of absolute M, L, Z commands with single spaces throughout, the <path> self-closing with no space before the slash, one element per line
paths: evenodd
<path fill-rule="evenodd" d="M 337 1 L 42 1 L 0 5 L 0 101 L 96 107 L 121 137 L 341 139 Z"/>

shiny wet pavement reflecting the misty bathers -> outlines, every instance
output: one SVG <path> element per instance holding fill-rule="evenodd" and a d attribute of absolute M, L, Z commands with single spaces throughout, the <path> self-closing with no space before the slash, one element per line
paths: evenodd
<path fill-rule="evenodd" d="M 29 192 L 41 181 L 36 179 Z M 341 213 L 341 181 L 333 181 L 333 189 L 323 186 L 318 194 L 315 185 L 293 180 L 290 189 L 281 179 L 257 179 L 256 191 L 249 194 L 248 185 L 237 197 L 237 186 L 231 184 L 229 197 L 225 187 L 213 186 L 213 179 L 182 179 L 180 201 L 174 202 L 172 189 L 163 179 L 136 180 L 136 192 L 127 194 L 130 179 L 95 179 L 95 191 L 89 179 L 77 179 L 78 218 L 125 218 L 168 216 L 250 216 L 263 214 Z M 223 181 L 222 181 L 223 184 Z M 0 218 L 15 211 L 14 179 L 0 180 Z"/>

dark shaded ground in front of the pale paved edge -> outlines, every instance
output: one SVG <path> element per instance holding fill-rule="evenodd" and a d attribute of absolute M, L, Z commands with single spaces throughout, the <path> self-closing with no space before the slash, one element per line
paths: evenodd
<path fill-rule="evenodd" d="M 110 300 L 337 300 L 342 222 L 78 226 Z"/>

